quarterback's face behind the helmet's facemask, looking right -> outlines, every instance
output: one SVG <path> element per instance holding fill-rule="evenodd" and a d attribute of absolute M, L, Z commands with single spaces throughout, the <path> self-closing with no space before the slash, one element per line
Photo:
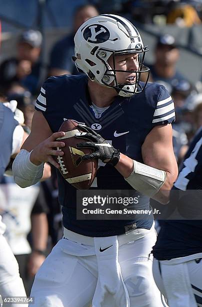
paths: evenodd
<path fill-rule="evenodd" d="M 139 69 L 138 54 L 124 54 L 114 57 L 115 67 L 113 67 L 113 59 L 108 59 L 108 64 L 112 69 L 127 71 L 116 72 L 116 81 L 118 84 L 135 83 L 136 74 L 134 71 Z"/>

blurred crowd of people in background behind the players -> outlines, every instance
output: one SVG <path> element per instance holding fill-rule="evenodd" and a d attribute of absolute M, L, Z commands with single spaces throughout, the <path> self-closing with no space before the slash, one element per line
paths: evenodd
<path fill-rule="evenodd" d="M 180 165 L 202 126 L 200 0 L 0 0 L 0 101 L 17 101 L 29 132 L 43 81 L 78 73 L 71 59 L 74 33 L 88 18 L 105 13 L 126 17 L 148 45 L 149 82 L 163 84 L 175 104 L 173 146 Z M 4 176 L 0 214 L 29 295 L 34 274 L 62 235 L 54 169 L 49 179 L 23 190 Z"/>

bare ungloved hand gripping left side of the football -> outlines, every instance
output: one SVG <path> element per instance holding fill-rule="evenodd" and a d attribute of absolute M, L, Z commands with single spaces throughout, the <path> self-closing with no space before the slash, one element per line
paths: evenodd
<path fill-rule="evenodd" d="M 64 132 L 52 133 L 43 142 L 39 143 L 30 154 L 30 162 L 35 165 L 40 165 L 42 162 L 49 162 L 55 168 L 59 169 L 58 163 L 53 159 L 52 156 L 63 156 L 64 152 L 57 147 L 64 147 L 64 142 L 56 140 L 56 138 L 64 136 Z"/>

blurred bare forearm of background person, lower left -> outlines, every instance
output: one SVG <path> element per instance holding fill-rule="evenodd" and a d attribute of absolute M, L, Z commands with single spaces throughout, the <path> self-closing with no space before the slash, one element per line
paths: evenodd
<path fill-rule="evenodd" d="M 31 216 L 31 226 L 33 250 L 45 250 L 47 246 L 48 236 L 48 224 L 46 214 L 33 214 Z"/>

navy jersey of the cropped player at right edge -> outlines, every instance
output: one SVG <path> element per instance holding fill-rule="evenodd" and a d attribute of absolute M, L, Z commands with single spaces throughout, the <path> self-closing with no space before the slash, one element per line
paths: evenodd
<path fill-rule="evenodd" d="M 198 202 L 195 190 L 202 190 L 202 128 L 194 136 L 185 155 L 181 171 L 171 191 L 174 198 L 177 197 L 177 190 L 186 192 L 186 202 L 190 208 Z M 201 203 L 201 199 L 199 201 Z M 201 220 L 166 220 L 160 224 L 161 229 L 153 247 L 156 259 L 169 260 L 202 252 Z"/>

